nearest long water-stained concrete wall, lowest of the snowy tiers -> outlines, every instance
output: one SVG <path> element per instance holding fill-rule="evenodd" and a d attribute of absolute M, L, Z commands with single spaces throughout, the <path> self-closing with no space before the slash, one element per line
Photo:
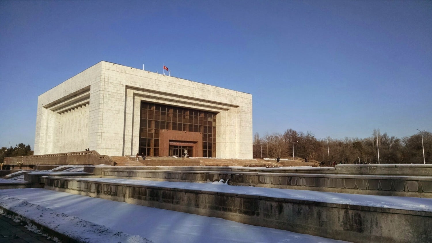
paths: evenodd
<path fill-rule="evenodd" d="M 432 242 L 432 212 L 42 177 L 46 189 L 337 240 Z"/>

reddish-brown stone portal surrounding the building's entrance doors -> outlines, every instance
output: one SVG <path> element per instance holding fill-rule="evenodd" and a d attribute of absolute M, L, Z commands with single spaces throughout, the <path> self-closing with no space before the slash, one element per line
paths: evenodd
<path fill-rule="evenodd" d="M 169 156 L 169 145 L 190 146 L 193 155 L 189 157 L 203 157 L 203 134 L 174 130 L 160 130 L 159 156 Z M 172 144 L 173 143 L 173 144 Z M 174 144 L 178 143 L 178 144 Z"/>

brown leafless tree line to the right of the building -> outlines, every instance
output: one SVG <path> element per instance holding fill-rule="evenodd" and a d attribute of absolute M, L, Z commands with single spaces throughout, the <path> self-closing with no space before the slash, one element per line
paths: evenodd
<path fill-rule="evenodd" d="M 378 164 L 377 138 L 381 164 L 423 164 L 421 133 L 399 139 L 387 133 L 381 134 L 379 129 L 374 129 L 373 136 L 364 139 L 317 139 L 311 132 L 303 133 L 293 129 L 286 129 L 284 133 L 266 134 L 263 137 L 255 133 L 253 157 L 290 158 L 293 157 L 294 145 L 294 156 L 308 160 L 323 163 L 336 161 L 338 164 Z M 432 133 L 423 132 L 423 144 L 426 164 L 432 164 Z"/>

